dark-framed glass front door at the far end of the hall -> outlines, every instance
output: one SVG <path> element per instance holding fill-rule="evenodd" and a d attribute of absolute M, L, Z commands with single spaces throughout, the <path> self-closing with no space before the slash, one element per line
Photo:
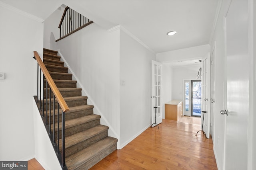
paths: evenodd
<path fill-rule="evenodd" d="M 201 117 L 201 80 L 191 80 L 191 116 Z"/>

